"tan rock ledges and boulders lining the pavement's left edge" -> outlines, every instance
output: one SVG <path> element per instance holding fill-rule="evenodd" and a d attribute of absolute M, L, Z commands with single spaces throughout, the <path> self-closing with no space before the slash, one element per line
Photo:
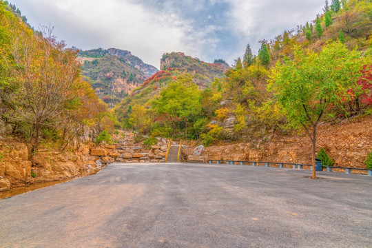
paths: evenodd
<path fill-rule="evenodd" d="M 29 158 L 28 147 L 24 142 L 13 138 L 0 138 L 0 192 L 14 187 L 88 176 L 99 172 L 106 164 L 159 163 L 165 161 L 167 142 L 158 138 L 152 147 L 136 143 L 131 132 L 119 131 L 112 135 L 113 145 L 92 143 L 94 136 L 74 143 L 69 152 L 42 149 Z"/>

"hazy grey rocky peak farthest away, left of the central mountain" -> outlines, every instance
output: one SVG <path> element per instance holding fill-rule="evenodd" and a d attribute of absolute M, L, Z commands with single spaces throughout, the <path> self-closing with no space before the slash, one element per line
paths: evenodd
<path fill-rule="evenodd" d="M 110 48 L 79 52 L 82 74 L 103 101 L 113 106 L 158 72 L 130 51 Z"/>

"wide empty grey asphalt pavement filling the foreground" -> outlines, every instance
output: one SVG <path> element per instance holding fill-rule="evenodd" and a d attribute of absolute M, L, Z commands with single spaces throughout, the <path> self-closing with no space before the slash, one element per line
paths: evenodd
<path fill-rule="evenodd" d="M 372 247 L 372 177 L 114 163 L 0 200 L 0 247 Z"/>

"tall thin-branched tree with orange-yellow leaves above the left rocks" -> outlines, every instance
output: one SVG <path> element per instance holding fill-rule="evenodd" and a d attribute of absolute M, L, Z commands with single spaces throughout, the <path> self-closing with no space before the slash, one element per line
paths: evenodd
<path fill-rule="evenodd" d="M 80 65 L 76 52 L 65 49 L 63 42 L 47 32 L 37 37 L 31 31 L 19 33 L 13 41 L 17 66 L 12 74 L 18 83 L 12 96 L 17 103 L 14 118 L 31 123 L 31 152 L 37 150 L 41 128 L 52 125 L 65 105 L 77 99 Z"/>

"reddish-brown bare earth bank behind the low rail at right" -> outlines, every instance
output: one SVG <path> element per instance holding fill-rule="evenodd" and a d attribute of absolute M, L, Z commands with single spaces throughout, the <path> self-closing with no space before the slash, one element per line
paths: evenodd
<path fill-rule="evenodd" d="M 372 116 L 358 116 L 342 123 L 321 123 L 316 150 L 321 147 L 335 162 L 334 166 L 365 168 L 372 150 Z M 306 134 L 271 132 L 249 143 L 220 143 L 205 147 L 202 156 L 212 160 L 269 161 L 311 164 L 311 142 Z M 185 150 L 192 154 L 193 148 Z"/>

